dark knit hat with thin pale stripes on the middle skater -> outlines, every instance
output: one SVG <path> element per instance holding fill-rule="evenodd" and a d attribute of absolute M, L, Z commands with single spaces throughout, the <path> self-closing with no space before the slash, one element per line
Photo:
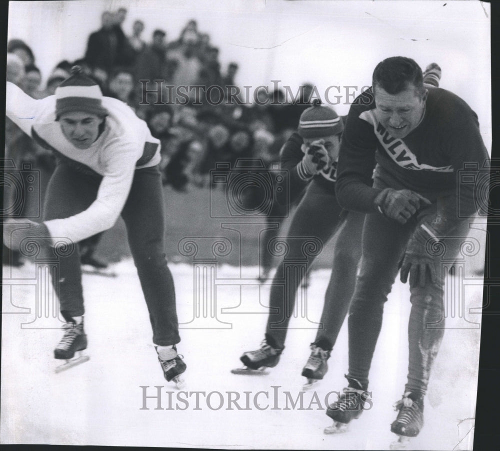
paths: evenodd
<path fill-rule="evenodd" d="M 319 99 L 312 101 L 312 107 L 304 110 L 298 122 L 298 134 L 302 138 L 319 138 L 342 133 L 343 124 L 332 108 L 321 105 Z"/>

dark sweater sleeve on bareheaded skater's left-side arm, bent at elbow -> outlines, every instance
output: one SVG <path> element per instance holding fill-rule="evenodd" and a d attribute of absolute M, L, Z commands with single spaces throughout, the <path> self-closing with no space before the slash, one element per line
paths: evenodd
<path fill-rule="evenodd" d="M 374 201 L 381 191 L 371 187 L 377 141 L 373 127 L 359 118 L 362 111 L 354 101 L 347 115 L 338 154 L 335 193 L 342 208 L 371 213 L 376 211 Z"/>

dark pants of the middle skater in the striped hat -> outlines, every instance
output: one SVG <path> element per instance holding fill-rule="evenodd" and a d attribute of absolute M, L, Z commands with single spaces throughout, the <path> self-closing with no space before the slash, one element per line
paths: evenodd
<path fill-rule="evenodd" d="M 293 216 L 286 242 L 288 252 L 277 266 L 271 286 L 266 333 L 278 347 L 283 347 L 288 322 L 295 305 L 295 293 L 301 278 L 293 273 L 287 262 L 303 261 L 305 237 L 315 237 L 322 245 L 335 234 L 331 277 L 324 297 L 324 306 L 316 341 L 323 338 L 335 344 L 354 291 L 356 268 L 361 255 L 361 230 L 364 214 L 344 212 L 332 190 L 314 180 L 299 203 Z M 302 239 L 303 237 L 303 239 Z M 314 256 L 305 256 L 310 267 Z"/>

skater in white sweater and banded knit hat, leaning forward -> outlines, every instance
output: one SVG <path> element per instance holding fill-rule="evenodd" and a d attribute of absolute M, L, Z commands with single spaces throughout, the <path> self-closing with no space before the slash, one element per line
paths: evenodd
<path fill-rule="evenodd" d="M 178 378 L 186 365 L 175 346 L 180 338 L 174 284 L 164 254 L 159 141 L 128 106 L 103 97 L 77 66 L 54 96 L 42 100 L 7 83 L 6 115 L 58 160 L 47 188 L 43 222 L 29 221 L 29 228 L 19 224 L 26 220 L 4 225 L 8 246 L 18 248 L 26 238 L 38 240 L 59 259 L 58 279 L 52 283 L 66 324 L 54 357 L 71 359 L 87 347 L 75 243 L 109 229 L 121 214 L 164 377 Z M 57 253 L 54 246 L 68 240 L 74 244 L 72 252 Z"/>

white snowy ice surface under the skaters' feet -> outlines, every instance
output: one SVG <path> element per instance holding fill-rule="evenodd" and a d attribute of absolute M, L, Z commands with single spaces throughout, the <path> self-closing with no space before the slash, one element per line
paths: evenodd
<path fill-rule="evenodd" d="M 257 268 L 242 268 L 240 273 L 236 267 L 218 267 L 217 280 L 234 280 L 216 288 L 216 317 L 221 322 L 196 328 L 201 323 L 193 320 L 193 268 L 186 263 L 169 267 L 179 322 L 185 323 L 178 345 L 187 364 L 184 392 L 163 379 L 131 260 L 113 265 L 116 278 L 83 275 L 90 360 L 58 374 L 52 351 L 61 337 L 61 323 L 50 307 L 34 308 L 34 285 L 29 284 L 34 263 L 11 273 L 3 268 L 2 443 L 388 449 L 395 438 L 389 429 L 396 415 L 392 404 L 402 394 L 406 375 L 407 285 L 396 281 L 385 306 L 370 373 L 372 408 L 353 421 L 347 433 L 325 435 L 322 429 L 331 424 L 325 396 L 345 386 L 346 324 L 323 381 L 302 394 L 302 408 L 300 403 L 292 408 L 290 401 L 300 396 L 305 382 L 300 371 L 314 338 L 313 321 L 320 316 L 329 270 L 312 272 L 308 319 L 292 318 L 278 366 L 268 375 L 247 376 L 231 374 L 230 369 L 241 366 L 241 353 L 256 349 L 263 338 L 269 286 L 252 281 Z M 242 279 L 246 285 L 239 286 Z M 480 314 L 468 309 L 481 306 L 481 281 L 468 280 L 466 316 L 480 322 Z M 479 338 L 479 328 L 446 330 L 425 401 L 425 426 L 409 449 L 472 448 Z M 194 392 L 200 392 L 198 405 Z M 329 402 L 335 399 L 334 394 L 328 396 Z"/>

